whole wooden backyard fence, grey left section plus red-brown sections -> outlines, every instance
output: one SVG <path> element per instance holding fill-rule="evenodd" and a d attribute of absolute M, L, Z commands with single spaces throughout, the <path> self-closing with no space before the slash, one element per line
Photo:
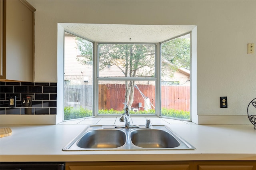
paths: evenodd
<path fill-rule="evenodd" d="M 134 88 L 134 102 L 132 107 L 138 108 L 139 103 L 144 107 L 144 98 L 150 99 L 155 107 L 155 86 L 137 85 Z M 70 107 L 83 107 L 92 110 L 92 85 L 65 85 L 64 105 Z M 141 92 L 141 93 L 140 93 Z M 162 86 L 162 108 L 190 111 L 190 87 L 189 86 Z M 121 111 L 124 108 L 125 85 L 106 84 L 99 85 L 99 109 L 114 109 Z M 154 107 L 151 106 L 152 109 Z M 140 108 L 143 110 L 143 108 Z"/>

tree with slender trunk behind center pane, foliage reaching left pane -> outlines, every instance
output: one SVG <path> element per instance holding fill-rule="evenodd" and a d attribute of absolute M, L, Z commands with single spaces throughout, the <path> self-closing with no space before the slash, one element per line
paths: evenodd
<path fill-rule="evenodd" d="M 83 58 L 78 61 L 87 65 L 92 61 L 93 46 L 77 38 Z M 152 44 L 99 44 L 99 70 L 116 65 L 124 77 L 153 77 L 155 46 Z M 134 80 L 125 81 L 125 99 L 128 107 L 134 101 Z"/>

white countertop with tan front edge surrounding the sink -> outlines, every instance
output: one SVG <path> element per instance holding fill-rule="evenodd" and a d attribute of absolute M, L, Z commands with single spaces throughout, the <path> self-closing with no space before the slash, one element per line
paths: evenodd
<path fill-rule="evenodd" d="M 196 150 L 62 151 L 87 126 L 1 126 L 12 135 L 0 138 L 0 161 L 256 160 L 252 125 L 167 125 Z"/>

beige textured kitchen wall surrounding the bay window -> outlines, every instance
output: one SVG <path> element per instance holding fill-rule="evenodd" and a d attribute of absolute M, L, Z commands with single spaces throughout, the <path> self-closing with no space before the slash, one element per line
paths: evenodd
<path fill-rule="evenodd" d="M 196 25 L 198 115 L 246 115 L 256 97 L 255 0 L 28 0 L 36 8 L 35 81 L 57 81 L 57 23 Z M 220 96 L 228 108 L 220 109 Z"/>

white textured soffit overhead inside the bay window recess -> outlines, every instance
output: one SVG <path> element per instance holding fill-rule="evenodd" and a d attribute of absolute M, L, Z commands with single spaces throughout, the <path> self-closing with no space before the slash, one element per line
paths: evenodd
<path fill-rule="evenodd" d="M 190 32 L 196 26 L 70 24 L 64 30 L 94 42 L 157 43 Z"/>

